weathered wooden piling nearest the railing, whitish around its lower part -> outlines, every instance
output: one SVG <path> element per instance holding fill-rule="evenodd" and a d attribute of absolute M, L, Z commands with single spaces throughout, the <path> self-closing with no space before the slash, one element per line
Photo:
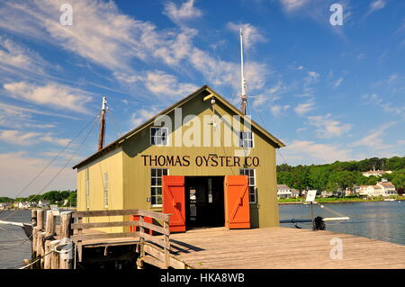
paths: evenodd
<path fill-rule="evenodd" d="M 60 245 L 64 246 L 59 254 L 59 269 L 73 268 L 73 244 L 72 244 L 72 211 L 60 213 Z"/>

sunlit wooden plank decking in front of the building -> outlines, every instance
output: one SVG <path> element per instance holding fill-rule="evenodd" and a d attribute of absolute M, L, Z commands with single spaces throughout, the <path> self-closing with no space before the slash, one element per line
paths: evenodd
<path fill-rule="evenodd" d="M 343 259 L 331 259 L 332 238 Z M 405 268 L 405 246 L 310 229 L 194 229 L 170 235 L 172 255 L 193 268 Z"/>

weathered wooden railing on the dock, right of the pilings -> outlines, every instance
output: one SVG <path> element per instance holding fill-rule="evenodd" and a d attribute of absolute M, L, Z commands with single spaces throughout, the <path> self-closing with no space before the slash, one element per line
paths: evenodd
<path fill-rule="evenodd" d="M 110 217 L 110 216 L 128 216 L 132 215 L 132 218 L 137 218 L 138 220 L 130 221 L 113 221 L 113 222 L 92 222 L 83 223 L 83 218 L 94 218 L 94 217 Z M 92 242 L 102 242 L 102 239 L 106 238 L 139 238 L 139 260 L 138 265 L 142 267 L 143 262 L 147 262 L 152 265 L 157 265 L 159 267 L 169 267 L 170 265 L 170 230 L 169 230 L 169 214 L 146 211 L 146 210 L 116 210 L 116 211 L 75 211 L 72 217 L 76 219 L 76 223 L 71 225 L 73 230 L 72 240 L 76 244 L 78 261 L 82 261 L 82 249 L 84 241 L 92 240 Z M 145 218 L 160 221 L 163 224 L 158 226 L 154 223 L 145 222 Z M 83 229 L 100 229 L 100 228 L 114 228 L 114 227 L 139 227 L 132 228 L 129 232 L 115 232 L 106 233 L 100 231 L 99 233 L 84 233 Z M 152 236 L 148 234 L 145 229 L 153 230 L 161 235 Z M 146 247 L 146 243 L 151 243 L 151 245 L 157 246 L 158 253 L 164 253 L 165 260 L 161 262 L 152 256 L 146 255 L 150 248 Z M 160 249 L 161 248 L 161 249 Z M 160 250 L 159 250 L 160 249 Z"/>

